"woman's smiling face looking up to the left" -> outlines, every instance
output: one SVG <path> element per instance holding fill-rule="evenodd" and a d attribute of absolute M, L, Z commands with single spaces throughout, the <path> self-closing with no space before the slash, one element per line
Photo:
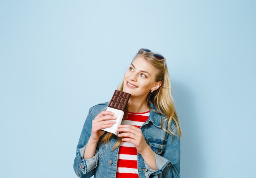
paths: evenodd
<path fill-rule="evenodd" d="M 130 93 L 131 97 L 146 99 L 151 90 L 157 90 L 162 82 L 155 81 L 156 70 L 145 59 L 137 57 L 124 75 L 124 92 Z"/>

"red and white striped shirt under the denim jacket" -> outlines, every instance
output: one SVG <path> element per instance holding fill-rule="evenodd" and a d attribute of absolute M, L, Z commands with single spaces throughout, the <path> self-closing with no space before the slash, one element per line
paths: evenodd
<path fill-rule="evenodd" d="M 129 112 L 128 118 L 122 124 L 134 125 L 138 128 L 148 119 L 149 111 L 143 113 Z M 116 178 L 139 178 L 138 157 L 135 145 L 122 142 L 119 147 Z"/>

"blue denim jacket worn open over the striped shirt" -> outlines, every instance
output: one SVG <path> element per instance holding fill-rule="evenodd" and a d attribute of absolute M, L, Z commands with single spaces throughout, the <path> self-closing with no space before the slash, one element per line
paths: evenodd
<path fill-rule="evenodd" d="M 101 103 L 90 108 L 88 116 L 83 125 L 83 130 L 76 149 L 74 159 L 74 171 L 80 178 L 115 178 L 117 170 L 117 155 L 119 147 L 112 150 L 112 146 L 118 140 L 113 135 L 110 143 L 98 143 L 95 155 L 90 159 L 83 159 L 85 146 L 92 130 L 92 120 L 102 111 L 106 110 L 108 103 Z M 156 110 L 154 105 L 151 105 Z M 180 137 L 177 133 L 175 122 L 171 121 L 171 131 L 168 134 L 161 128 L 164 116 L 150 110 L 148 120 L 141 126 L 146 143 L 155 153 L 157 170 L 151 169 L 140 154 L 138 154 L 139 178 L 180 178 Z M 167 122 L 163 124 L 167 128 Z"/>

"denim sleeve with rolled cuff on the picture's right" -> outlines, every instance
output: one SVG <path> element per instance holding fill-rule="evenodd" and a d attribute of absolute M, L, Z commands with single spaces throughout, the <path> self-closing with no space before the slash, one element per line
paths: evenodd
<path fill-rule="evenodd" d="M 169 134 L 164 152 L 161 155 L 155 153 L 158 170 L 151 169 L 145 163 L 146 178 L 180 178 L 180 136 L 177 127 L 172 132 L 177 136 Z"/>

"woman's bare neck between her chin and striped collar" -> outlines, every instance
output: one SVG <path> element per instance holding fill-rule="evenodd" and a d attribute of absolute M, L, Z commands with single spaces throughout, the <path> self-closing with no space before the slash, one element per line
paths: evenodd
<path fill-rule="evenodd" d="M 149 110 L 146 100 L 135 101 L 133 99 L 129 99 L 128 101 L 128 111 L 129 112 L 147 112 Z"/>

